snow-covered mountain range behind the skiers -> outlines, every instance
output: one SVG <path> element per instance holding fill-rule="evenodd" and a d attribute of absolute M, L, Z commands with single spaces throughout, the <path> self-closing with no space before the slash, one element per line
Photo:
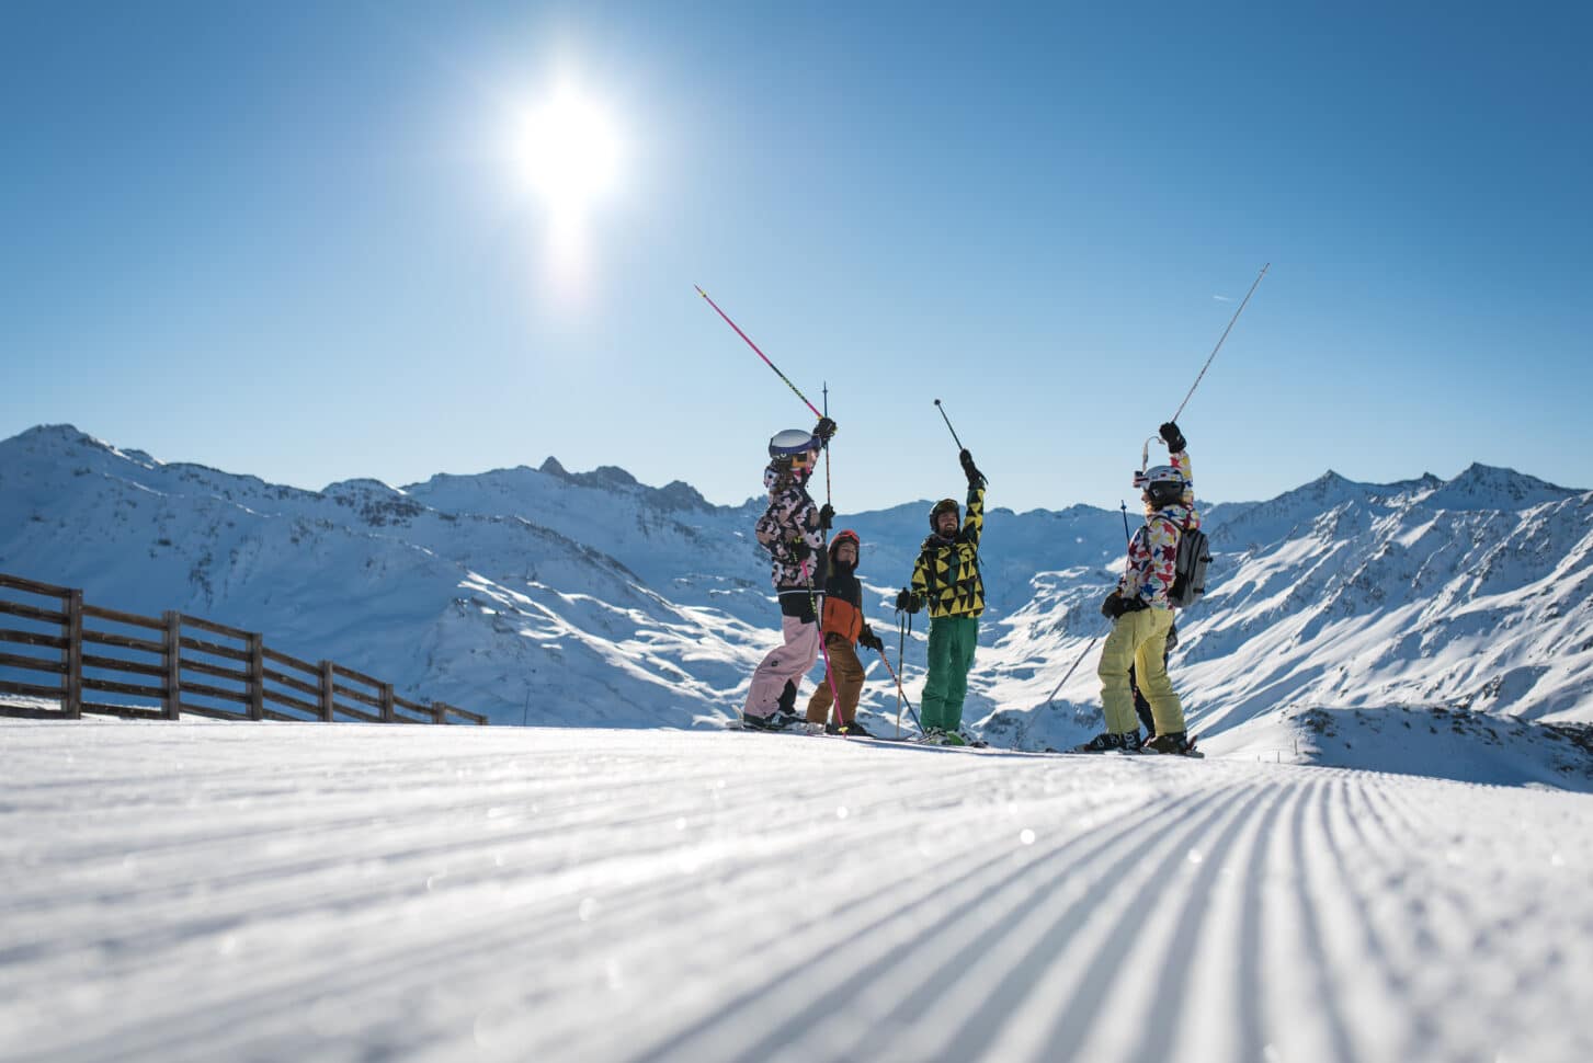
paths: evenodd
<path fill-rule="evenodd" d="M 758 474 L 749 468 L 749 485 Z M 750 538 L 760 508 L 712 506 L 687 484 L 647 487 L 618 468 L 572 474 L 553 458 L 304 492 L 161 463 L 72 426 L 0 442 L 0 570 L 113 608 L 260 630 L 287 652 L 497 722 L 690 726 L 734 713 L 776 638 Z M 862 535 L 878 594 L 868 613 L 892 649 L 889 600 L 927 509 L 838 517 Z M 1593 721 L 1593 493 L 1481 465 L 1397 484 L 1327 473 L 1268 501 L 1211 506 L 1206 527 L 1209 594 L 1180 624 L 1174 681 L 1207 737 L 1389 707 Z M 1117 511 L 989 511 L 989 609 L 967 711 L 989 737 L 1037 748 L 1096 726 L 1090 643 L 1106 632 L 1096 606 L 1121 547 Z M 914 699 L 924 624 L 906 654 Z M 865 708 L 894 718 L 895 692 L 878 665 L 876 676 Z"/>

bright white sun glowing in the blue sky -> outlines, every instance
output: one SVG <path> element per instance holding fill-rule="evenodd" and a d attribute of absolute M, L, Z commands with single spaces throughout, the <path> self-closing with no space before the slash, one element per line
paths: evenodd
<path fill-rule="evenodd" d="M 620 140 L 609 115 L 570 86 L 524 115 L 518 145 L 527 183 L 556 220 L 580 220 L 618 180 Z"/>

